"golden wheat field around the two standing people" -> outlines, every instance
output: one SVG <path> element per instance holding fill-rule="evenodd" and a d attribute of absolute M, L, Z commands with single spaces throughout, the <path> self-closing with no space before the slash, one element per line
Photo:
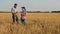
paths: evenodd
<path fill-rule="evenodd" d="M 0 34 L 60 34 L 60 13 L 27 13 L 26 25 L 12 24 L 11 13 L 0 13 Z"/>

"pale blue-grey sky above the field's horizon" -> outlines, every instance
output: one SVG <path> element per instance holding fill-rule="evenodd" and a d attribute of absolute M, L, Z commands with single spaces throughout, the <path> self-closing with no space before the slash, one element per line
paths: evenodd
<path fill-rule="evenodd" d="M 60 0 L 0 0 L 0 11 L 11 11 L 14 3 L 18 11 L 25 6 L 27 11 L 57 11 L 60 10 Z"/>

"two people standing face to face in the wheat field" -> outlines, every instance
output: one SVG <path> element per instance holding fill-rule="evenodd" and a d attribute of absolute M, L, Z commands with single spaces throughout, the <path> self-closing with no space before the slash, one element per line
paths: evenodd
<path fill-rule="evenodd" d="M 13 8 L 11 9 L 11 12 L 12 12 L 12 19 L 13 19 L 13 23 L 19 23 L 19 20 L 18 20 L 18 16 L 17 16 L 17 3 L 14 4 Z M 25 7 L 21 7 L 22 8 L 22 11 L 21 11 L 21 22 L 25 25 L 26 23 L 26 8 Z"/>

